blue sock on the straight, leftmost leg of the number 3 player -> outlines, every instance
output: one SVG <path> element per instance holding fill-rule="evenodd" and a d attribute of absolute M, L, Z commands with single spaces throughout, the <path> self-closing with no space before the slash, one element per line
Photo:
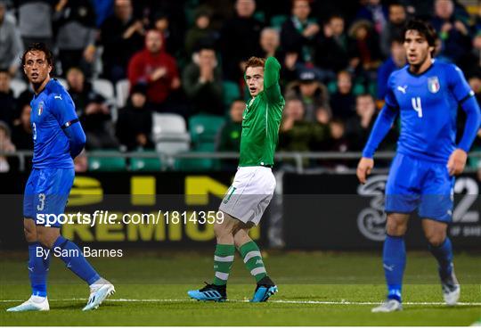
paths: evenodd
<path fill-rule="evenodd" d="M 39 242 L 29 242 L 29 280 L 32 295 L 46 297 L 46 278 L 50 266 L 50 253 L 45 259 L 45 252 L 37 256 L 38 250 L 46 250 Z"/>

